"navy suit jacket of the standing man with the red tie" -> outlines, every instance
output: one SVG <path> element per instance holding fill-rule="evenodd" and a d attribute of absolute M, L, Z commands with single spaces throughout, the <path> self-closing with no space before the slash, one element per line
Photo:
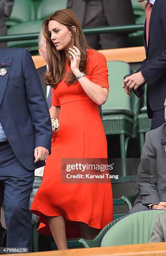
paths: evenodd
<path fill-rule="evenodd" d="M 143 60 L 141 71 L 147 81 L 147 112 L 152 118 L 151 110 L 164 109 L 166 97 L 166 0 L 156 0 L 152 6 L 149 23 L 148 48 L 146 46 L 146 22 L 143 42 L 146 59 Z"/>

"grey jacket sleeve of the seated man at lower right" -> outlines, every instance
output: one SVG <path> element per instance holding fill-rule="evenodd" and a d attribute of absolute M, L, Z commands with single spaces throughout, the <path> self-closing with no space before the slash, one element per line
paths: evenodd
<path fill-rule="evenodd" d="M 156 151 L 151 144 L 150 137 L 146 133 L 143 146 L 141 163 L 138 166 L 136 182 L 140 189 L 142 204 L 158 204 L 160 199 L 157 192 L 157 166 Z"/>

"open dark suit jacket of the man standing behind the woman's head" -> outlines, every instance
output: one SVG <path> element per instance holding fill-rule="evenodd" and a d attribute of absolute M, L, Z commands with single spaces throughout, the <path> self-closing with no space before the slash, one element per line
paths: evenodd
<path fill-rule="evenodd" d="M 103 7 L 110 26 L 135 23 L 131 0 L 103 0 Z M 80 25 L 83 26 L 86 0 L 68 0 L 67 8 L 77 15 Z"/>

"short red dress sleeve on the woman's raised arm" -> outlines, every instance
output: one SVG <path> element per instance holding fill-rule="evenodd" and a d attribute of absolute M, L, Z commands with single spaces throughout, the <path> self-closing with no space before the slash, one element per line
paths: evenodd
<path fill-rule="evenodd" d="M 103 54 L 95 51 L 91 56 L 91 81 L 95 84 L 100 85 L 109 89 L 108 85 L 108 69 L 106 58 Z"/>

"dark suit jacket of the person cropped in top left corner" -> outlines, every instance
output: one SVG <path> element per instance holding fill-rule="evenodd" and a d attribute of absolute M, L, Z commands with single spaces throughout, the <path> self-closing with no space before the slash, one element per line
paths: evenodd
<path fill-rule="evenodd" d="M 10 16 L 14 0 L 0 0 L 0 36 L 7 34 L 5 18 Z M 5 47 L 6 43 L 0 43 L 0 47 Z"/>

